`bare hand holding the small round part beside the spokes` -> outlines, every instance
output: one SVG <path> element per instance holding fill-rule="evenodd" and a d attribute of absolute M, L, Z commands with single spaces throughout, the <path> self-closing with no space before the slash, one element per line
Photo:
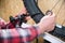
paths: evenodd
<path fill-rule="evenodd" d="M 48 14 L 46 16 L 43 16 L 40 20 L 40 23 L 38 24 L 39 26 L 39 32 L 49 32 L 52 31 L 54 29 L 55 26 L 55 14 Z"/>

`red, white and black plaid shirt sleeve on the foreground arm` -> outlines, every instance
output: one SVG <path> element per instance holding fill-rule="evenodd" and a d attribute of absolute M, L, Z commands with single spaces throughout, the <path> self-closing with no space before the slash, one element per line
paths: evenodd
<path fill-rule="evenodd" d="M 38 29 L 36 26 L 14 29 L 0 29 L 0 43 L 29 43 L 37 37 Z"/>

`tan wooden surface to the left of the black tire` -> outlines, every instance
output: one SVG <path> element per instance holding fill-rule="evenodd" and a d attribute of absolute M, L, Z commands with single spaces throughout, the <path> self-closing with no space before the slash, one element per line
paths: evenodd
<path fill-rule="evenodd" d="M 9 16 L 17 15 L 22 8 L 24 8 L 22 0 L 0 0 L 0 17 L 8 22 Z"/>

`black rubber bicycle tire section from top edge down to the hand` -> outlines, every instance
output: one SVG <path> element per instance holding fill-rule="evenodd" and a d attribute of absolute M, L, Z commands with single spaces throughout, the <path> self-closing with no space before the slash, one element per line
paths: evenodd
<path fill-rule="evenodd" d="M 23 0 L 30 16 L 36 23 L 39 23 L 44 14 L 40 11 L 35 0 Z"/>

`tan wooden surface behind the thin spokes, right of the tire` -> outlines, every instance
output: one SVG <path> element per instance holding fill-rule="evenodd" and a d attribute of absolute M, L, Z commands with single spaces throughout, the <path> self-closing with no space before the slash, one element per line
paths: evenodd
<path fill-rule="evenodd" d="M 52 10 L 52 8 L 55 5 L 55 3 L 58 0 L 39 0 L 38 5 L 39 5 L 40 10 L 43 13 L 46 13 L 48 10 Z M 55 8 L 52 10 L 56 15 L 56 24 L 60 24 L 60 25 L 62 25 L 63 22 L 65 20 L 65 1 L 64 1 L 64 3 L 63 3 L 63 1 L 64 0 L 60 0 L 58 3 L 55 5 Z M 65 26 L 65 22 L 63 25 Z"/>

